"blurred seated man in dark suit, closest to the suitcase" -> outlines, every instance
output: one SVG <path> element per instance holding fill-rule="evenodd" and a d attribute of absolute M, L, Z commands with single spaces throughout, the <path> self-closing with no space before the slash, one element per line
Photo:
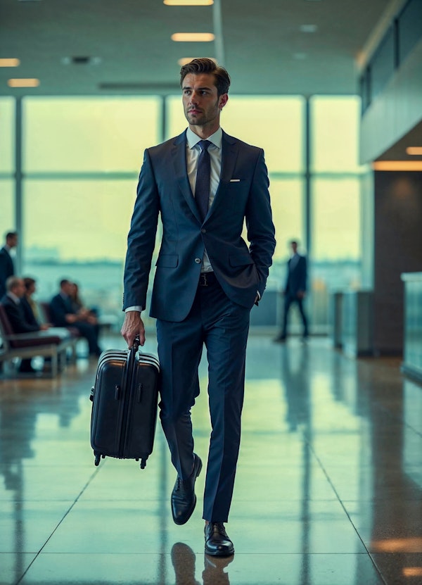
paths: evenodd
<path fill-rule="evenodd" d="M 87 316 L 79 314 L 72 306 L 73 283 L 68 279 L 60 281 L 60 292 L 50 301 L 51 320 L 55 327 L 74 327 L 79 334 L 87 339 L 90 356 L 99 356 L 98 325 L 89 322 Z"/>

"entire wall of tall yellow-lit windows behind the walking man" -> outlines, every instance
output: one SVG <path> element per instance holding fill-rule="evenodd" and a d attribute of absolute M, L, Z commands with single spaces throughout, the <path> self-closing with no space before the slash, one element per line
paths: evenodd
<path fill-rule="evenodd" d="M 309 168 L 305 104 L 302 96 L 231 94 L 222 127 L 264 149 L 277 239 L 268 289 L 275 298 L 274 290 L 283 287 L 288 244 L 298 239 L 309 254 L 307 302 L 317 330 L 327 324 L 329 291 L 361 282 L 365 169 L 357 158 L 359 99 L 310 99 Z M 187 125 L 180 94 L 165 98 L 163 120 L 161 114 L 159 96 L 23 99 L 23 267 L 38 279 L 40 297 L 53 294 L 60 277 L 70 277 L 90 304 L 100 299 L 107 311 L 120 312 L 143 149 Z M 0 228 L 5 232 L 15 227 L 13 99 L 0 99 L 0 127 Z"/>

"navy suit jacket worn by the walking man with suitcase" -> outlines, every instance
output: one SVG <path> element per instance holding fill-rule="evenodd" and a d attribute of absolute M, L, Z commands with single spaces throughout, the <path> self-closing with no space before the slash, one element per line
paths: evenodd
<path fill-rule="evenodd" d="M 257 291 L 264 293 L 276 244 L 268 187 L 264 151 L 223 132 L 219 187 L 202 222 L 186 171 L 186 132 L 146 149 L 128 236 L 123 309 L 146 306 L 159 215 L 151 317 L 186 318 L 205 248 L 226 295 L 252 308 Z M 249 246 L 242 238 L 244 221 Z"/>

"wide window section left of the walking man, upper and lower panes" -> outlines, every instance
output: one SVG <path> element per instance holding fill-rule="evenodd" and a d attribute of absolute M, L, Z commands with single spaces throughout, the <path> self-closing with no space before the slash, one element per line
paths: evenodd
<path fill-rule="evenodd" d="M 143 149 L 157 144 L 161 99 L 23 102 L 23 272 L 47 300 L 61 278 L 121 317 L 127 232 Z"/>

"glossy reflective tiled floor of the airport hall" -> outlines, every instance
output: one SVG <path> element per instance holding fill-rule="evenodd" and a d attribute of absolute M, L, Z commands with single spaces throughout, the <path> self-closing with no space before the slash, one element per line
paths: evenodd
<path fill-rule="evenodd" d="M 203 552 L 205 474 L 191 520 L 172 522 L 160 427 L 145 470 L 94 467 L 95 368 L 81 359 L 55 380 L 0 380 L 1 585 L 422 583 L 422 388 L 399 360 L 250 336 L 228 559 Z M 193 424 L 205 459 L 206 391 Z"/>

